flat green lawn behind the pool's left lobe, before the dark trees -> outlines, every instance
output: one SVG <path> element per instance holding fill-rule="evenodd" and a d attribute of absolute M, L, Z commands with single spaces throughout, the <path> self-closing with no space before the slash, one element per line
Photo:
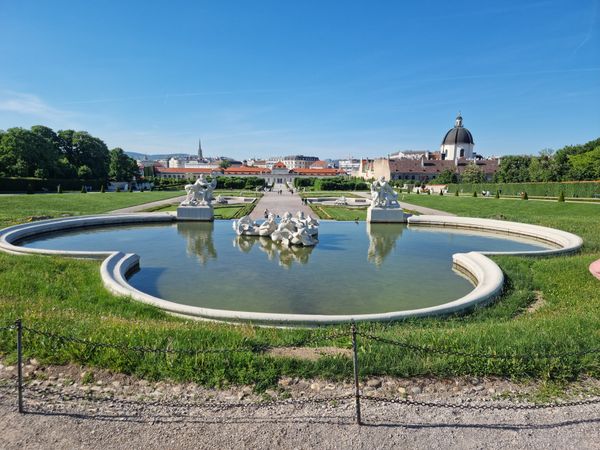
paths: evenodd
<path fill-rule="evenodd" d="M 0 227 L 34 216 L 97 214 L 178 196 L 180 191 L 1 195 Z"/>

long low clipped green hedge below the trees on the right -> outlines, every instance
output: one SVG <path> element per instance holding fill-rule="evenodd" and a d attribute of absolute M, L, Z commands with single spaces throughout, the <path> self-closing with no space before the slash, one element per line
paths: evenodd
<path fill-rule="evenodd" d="M 600 195 L 600 181 L 564 181 L 554 183 L 459 183 L 448 184 L 449 192 L 500 191 L 502 195 L 520 195 L 527 192 L 531 197 L 593 197 Z"/>

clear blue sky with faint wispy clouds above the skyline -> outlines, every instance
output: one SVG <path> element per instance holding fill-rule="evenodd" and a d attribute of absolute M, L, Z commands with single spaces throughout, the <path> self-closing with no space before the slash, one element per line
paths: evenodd
<path fill-rule="evenodd" d="M 0 129 L 236 158 L 600 137 L 600 0 L 0 0 Z"/>

